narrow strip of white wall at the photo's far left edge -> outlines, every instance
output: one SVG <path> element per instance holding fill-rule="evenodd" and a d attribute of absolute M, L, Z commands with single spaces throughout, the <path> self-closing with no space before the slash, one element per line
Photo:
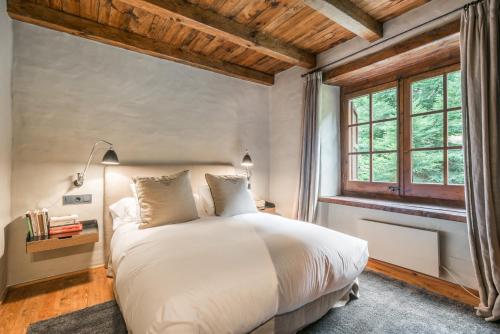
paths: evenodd
<path fill-rule="evenodd" d="M 12 21 L 0 0 L 0 294 L 5 287 L 4 227 L 10 222 Z"/>

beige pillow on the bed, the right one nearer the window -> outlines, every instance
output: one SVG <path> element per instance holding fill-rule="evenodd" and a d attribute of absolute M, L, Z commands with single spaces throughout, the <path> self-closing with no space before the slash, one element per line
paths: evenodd
<path fill-rule="evenodd" d="M 217 216 L 257 212 L 245 177 L 205 174 Z"/>

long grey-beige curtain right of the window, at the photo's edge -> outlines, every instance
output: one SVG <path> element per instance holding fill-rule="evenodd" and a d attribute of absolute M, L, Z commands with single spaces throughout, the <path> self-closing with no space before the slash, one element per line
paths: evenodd
<path fill-rule="evenodd" d="M 488 321 L 500 319 L 499 4 L 466 6 L 460 29 L 468 232 Z"/>

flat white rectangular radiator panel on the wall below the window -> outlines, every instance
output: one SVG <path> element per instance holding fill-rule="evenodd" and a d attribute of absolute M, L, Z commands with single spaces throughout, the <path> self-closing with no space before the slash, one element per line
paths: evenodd
<path fill-rule="evenodd" d="M 358 221 L 358 236 L 368 241 L 370 257 L 427 275 L 439 277 L 437 231 Z"/>

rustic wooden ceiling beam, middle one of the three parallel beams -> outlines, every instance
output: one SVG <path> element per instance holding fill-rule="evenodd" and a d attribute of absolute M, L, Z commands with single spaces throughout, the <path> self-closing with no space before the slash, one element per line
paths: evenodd
<path fill-rule="evenodd" d="M 224 38 L 281 61 L 305 68 L 316 66 L 315 55 L 185 0 L 121 1 L 156 15 L 174 17 L 189 28 Z"/>

